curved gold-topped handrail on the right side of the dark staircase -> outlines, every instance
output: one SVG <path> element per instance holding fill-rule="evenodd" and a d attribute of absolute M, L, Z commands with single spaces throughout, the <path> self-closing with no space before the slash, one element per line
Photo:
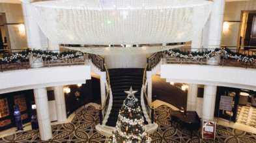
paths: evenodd
<path fill-rule="evenodd" d="M 146 76 L 147 67 L 148 67 L 148 63 L 146 64 L 144 72 L 143 72 L 143 85 L 142 86 L 143 86 L 144 98 L 146 98 L 147 104 L 149 105 L 149 108 L 150 108 L 150 111 L 148 111 L 148 114 L 150 116 L 151 123 L 153 124 L 154 123 L 154 106 L 149 102 L 149 98 L 147 97 L 147 92 L 146 92 L 147 82 L 145 82 L 145 76 Z"/>

